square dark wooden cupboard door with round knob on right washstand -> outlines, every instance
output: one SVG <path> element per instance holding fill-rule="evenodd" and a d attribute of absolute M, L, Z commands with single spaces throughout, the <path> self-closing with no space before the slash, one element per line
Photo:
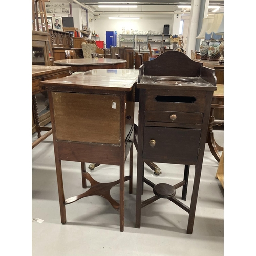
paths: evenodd
<path fill-rule="evenodd" d="M 201 129 L 146 126 L 144 127 L 143 158 L 163 163 L 196 162 L 200 137 Z M 155 146 L 151 146 L 152 140 L 155 141 Z"/>

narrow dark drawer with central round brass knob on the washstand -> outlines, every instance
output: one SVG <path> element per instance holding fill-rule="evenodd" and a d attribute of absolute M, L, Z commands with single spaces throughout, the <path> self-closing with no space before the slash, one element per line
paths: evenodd
<path fill-rule="evenodd" d="M 202 113 L 188 113 L 175 111 L 146 111 L 145 121 L 164 123 L 202 124 Z"/>

